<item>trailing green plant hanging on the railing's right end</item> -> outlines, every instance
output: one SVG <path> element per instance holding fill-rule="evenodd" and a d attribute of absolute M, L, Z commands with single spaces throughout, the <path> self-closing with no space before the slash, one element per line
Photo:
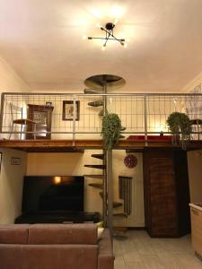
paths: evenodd
<path fill-rule="evenodd" d="M 173 112 L 166 120 L 172 134 L 172 142 L 180 140 L 182 149 L 186 149 L 186 144 L 190 139 L 191 124 L 189 117 L 185 113 Z"/>

